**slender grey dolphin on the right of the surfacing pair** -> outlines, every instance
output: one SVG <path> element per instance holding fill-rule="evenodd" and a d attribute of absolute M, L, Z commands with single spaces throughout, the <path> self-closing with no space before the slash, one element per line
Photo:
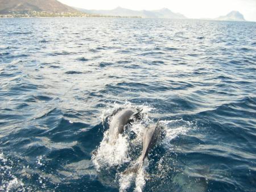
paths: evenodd
<path fill-rule="evenodd" d="M 163 127 L 159 126 L 159 119 L 156 126 L 151 124 L 144 130 L 141 156 L 139 156 L 138 161 L 131 168 L 124 172 L 125 174 L 138 172 L 143 165 L 144 159 L 148 156 L 150 149 L 152 149 L 160 137 L 162 137 L 162 133 Z"/>

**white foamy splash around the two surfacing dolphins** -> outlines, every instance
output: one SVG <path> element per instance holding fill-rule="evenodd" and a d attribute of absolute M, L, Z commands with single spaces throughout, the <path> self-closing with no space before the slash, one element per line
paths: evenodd
<path fill-rule="evenodd" d="M 154 123 L 152 118 L 150 118 L 150 112 L 152 111 L 151 107 L 145 105 L 134 106 L 131 103 L 126 102 L 124 105 L 119 105 L 117 103 L 114 104 L 113 108 L 106 108 L 102 111 L 101 119 L 104 123 L 108 116 L 110 116 L 113 111 L 117 110 L 118 108 L 141 108 L 143 118 L 139 122 L 134 122 L 131 126 L 126 127 L 126 130 L 119 134 L 117 143 L 109 144 L 109 135 L 108 130 L 104 133 L 104 138 L 100 143 L 100 147 L 97 149 L 97 153 L 92 156 L 93 164 L 98 171 L 101 169 L 110 169 L 115 166 L 116 167 L 116 180 L 119 184 L 119 191 L 127 191 L 131 187 L 134 186 L 134 191 L 143 191 L 144 186 L 146 185 L 146 175 L 147 175 L 147 168 L 150 164 L 150 160 L 145 159 L 143 162 L 143 166 L 140 166 L 137 172 L 126 172 L 129 168 L 136 164 L 139 153 L 138 151 L 142 148 L 143 143 L 143 132 L 148 124 Z M 109 123 L 109 122 L 108 122 Z M 163 126 L 163 130 L 165 132 L 164 139 L 160 141 L 160 143 L 164 143 L 169 146 L 167 147 L 168 150 L 172 150 L 170 148 L 171 140 L 175 139 L 179 135 L 185 135 L 194 125 L 192 122 L 185 121 L 183 119 L 177 120 L 161 120 L 160 126 Z M 133 132 L 135 134 L 135 138 L 130 138 L 130 133 Z M 137 151 L 136 151 L 137 150 Z M 136 151 L 138 154 L 131 154 L 133 151 Z M 163 155 L 164 156 L 164 155 Z M 160 158 L 158 162 L 158 166 L 161 168 L 166 167 L 167 165 L 164 164 L 162 158 Z M 110 167 L 109 167 L 110 166 Z M 119 171 L 118 168 L 125 167 L 125 170 Z M 168 169 L 170 171 L 170 169 Z M 166 174 L 166 172 L 156 172 L 155 177 L 162 177 L 162 174 Z"/>

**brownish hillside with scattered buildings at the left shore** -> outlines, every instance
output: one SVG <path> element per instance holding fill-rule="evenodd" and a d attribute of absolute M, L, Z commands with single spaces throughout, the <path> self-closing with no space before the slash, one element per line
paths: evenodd
<path fill-rule="evenodd" d="M 28 11 L 78 12 L 76 9 L 56 0 L 0 0 L 0 14 Z"/>

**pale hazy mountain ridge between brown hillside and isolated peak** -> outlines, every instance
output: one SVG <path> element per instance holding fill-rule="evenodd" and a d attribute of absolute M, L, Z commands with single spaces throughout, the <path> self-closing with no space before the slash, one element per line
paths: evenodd
<path fill-rule="evenodd" d="M 86 12 L 88 14 L 98 14 L 98 15 L 112 15 L 112 16 L 138 16 L 141 18 L 168 18 L 168 19 L 186 19 L 182 14 L 172 12 L 169 9 L 160 10 L 141 10 L 135 11 L 130 9 L 124 9 L 122 7 L 117 7 L 113 10 L 87 10 L 74 7 L 75 9 Z"/>

